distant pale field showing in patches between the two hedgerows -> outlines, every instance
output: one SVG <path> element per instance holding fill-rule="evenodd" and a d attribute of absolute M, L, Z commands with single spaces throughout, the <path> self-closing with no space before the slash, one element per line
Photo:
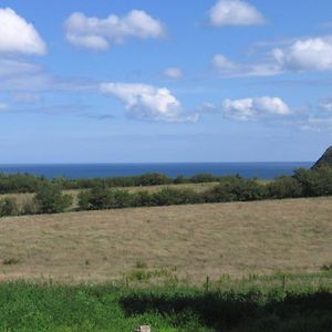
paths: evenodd
<path fill-rule="evenodd" d="M 116 187 L 115 189 L 128 190 L 129 193 L 137 193 L 147 190 L 149 193 L 158 191 L 163 188 L 176 188 L 176 189 L 193 189 L 197 193 L 204 191 L 216 186 L 218 183 L 203 183 L 203 184 L 180 184 L 180 185 L 160 185 L 160 186 L 145 186 L 145 187 Z M 80 194 L 81 189 L 72 189 L 72 190 L 64 190 L 63 193 L 70 194 L 73 196 L 73 205 L 70 210 L 74 210 L 77 207 L 77 195 Z M 27 193 L 27 194 L 2 194 L 0 195 L 0 199 L 4 197 L 12 197 L 15 198 L 18 201 L 19 207 L 24 205 L 24 203 L 32 200 L 34 194 Z"/>

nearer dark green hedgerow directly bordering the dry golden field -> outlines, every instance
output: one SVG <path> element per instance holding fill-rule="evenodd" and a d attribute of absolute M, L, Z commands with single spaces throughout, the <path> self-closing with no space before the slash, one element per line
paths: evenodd
<path fill-rule="evenodd" d="M 162 177 L 163 178 L 163 177 Z M 72 195 L 62 191 L 58 183 L 45 183 L 38 187 L 31 201 L 21 208 L 15 198 L 0 200 L 0 216 L 32 214 L 55 214 L 68 210 L 73 203 Z M 100 210 L 128 207 L 169 206 L 184 204 L 251 201 L 298 197 L 318 197 L 332 195 L 332 167 L 317 169 L 297 169 L 293 176 L 282 176 L 263 184 L 258 179 L 235 176 L 219 178 L 218 185 L 201 193 L 189 188 L 165 187 L 157 191 L 139 190 L 129 193 L 116 189 L 105 183 L 82 190 L 77 210 Z"/>

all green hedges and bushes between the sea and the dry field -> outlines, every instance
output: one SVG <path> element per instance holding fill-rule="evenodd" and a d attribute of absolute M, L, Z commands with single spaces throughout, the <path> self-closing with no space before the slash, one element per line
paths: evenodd
<path fill-rule="evenodd" d="M 172 187 L 164 187 L 154 193 L 147 190 L 129 193 L 113 188 L 114 186 L 209 183 L 216 179 L 219 180 L 217 186 L 200 193 Z M 30 187 L 25 186 L 27 180 Z M 1 187 L 6 181 L 11 183 L 12 187 Z M 63 195 L 61 190 L 75 186 L 89 188 L 82 190 L 77 196 L 80 210 L 328 196 L 332 195 L 332 167 L 297 169 L 293 176 L 282 176 L 268 184 L 258 179 L 242 178 L 239 175 L 214 177 L 210 174 L 197 174 L 190 178 L 177 176 L 172 179 L 162 174 L 151 173 L 137 177 L 75 180 L 56 178 L 52 181 L 28 175 L 0 175 L 0 191 L 13 188 L 33 188 L 37 184 L 39 185 L 35 189 L 35 198 L 33 201 L 27 201 L 21 211 L 19 211 L 14 200 L 9 198 L 0 200 L 0 217 L 19 214 L 62 212 L 72 205 L 73 198 L 71 195 Z"/>

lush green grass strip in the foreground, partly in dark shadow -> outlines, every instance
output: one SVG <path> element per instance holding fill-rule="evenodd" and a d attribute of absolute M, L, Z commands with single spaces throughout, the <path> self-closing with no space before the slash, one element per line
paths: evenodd
<path fill-rule="evenodd" d="M 0 331 L 330 332 L 332 273 L 181 282 L 64 286 L 0 283 Z"/>

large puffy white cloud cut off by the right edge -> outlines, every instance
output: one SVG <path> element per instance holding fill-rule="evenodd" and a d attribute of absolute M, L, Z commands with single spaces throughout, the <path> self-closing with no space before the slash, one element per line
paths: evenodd
<path fill-rule="evenodd" d="M 297 40 L 272 54 L 284 71 L 331 71 L 332 37 Z"/>

